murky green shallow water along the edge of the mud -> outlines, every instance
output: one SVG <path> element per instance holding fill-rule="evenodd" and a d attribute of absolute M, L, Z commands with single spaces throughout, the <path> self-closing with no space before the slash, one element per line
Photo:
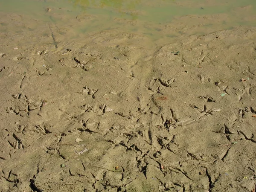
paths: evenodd
<path fill-rule="evenodd" d="M 72 37 L 117 29 L 160 39 L 256 26 L 256 0 L 0 0 L 0 12 L 54 23 Z"/>

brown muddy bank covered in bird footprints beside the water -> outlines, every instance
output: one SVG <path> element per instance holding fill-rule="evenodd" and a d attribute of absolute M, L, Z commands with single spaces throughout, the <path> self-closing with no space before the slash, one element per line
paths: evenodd
<path fill-rule="evenodd" d="M 256 28 L 39 30 L 0 33 L 1 192 L 255 191 Z"/>

